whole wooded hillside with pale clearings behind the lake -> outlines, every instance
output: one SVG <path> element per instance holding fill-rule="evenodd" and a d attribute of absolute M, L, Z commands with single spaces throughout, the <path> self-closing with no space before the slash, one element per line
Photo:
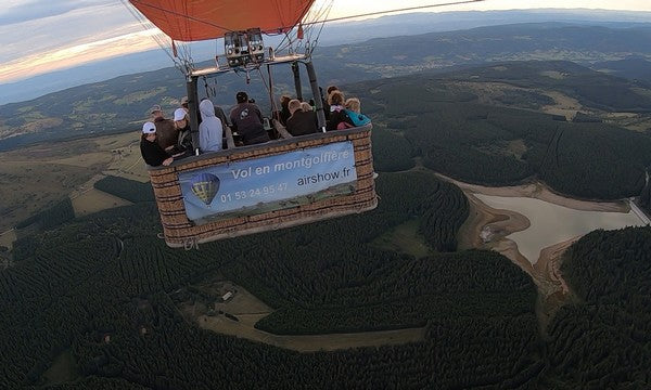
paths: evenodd
<path fill-rule="evenodd" d="M 418 156 L 467 182 L 500 186 L 535 177 L 564 194 L 614 199 L 639 195 L 651 166 L 651 134 L 605 122 L 611 112 L 589 110 L 603 120 L 541 113 L 573 100 L 572 115 L 586 105 L 649 107 L 649 96 L 629 81 L 572 63 L 505 63 L 360 82 L 348 91 L 386 125 L 374 130 L 379 169 L 403 170 Z"/>

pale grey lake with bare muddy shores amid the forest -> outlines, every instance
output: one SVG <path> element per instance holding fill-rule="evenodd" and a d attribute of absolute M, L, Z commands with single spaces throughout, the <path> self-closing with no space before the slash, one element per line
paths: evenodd
<path fill-rule="evenodd" d="M 529 197 L 506 197 L 474 194 L 495 209 L 511 210 L 526 217 L 531 226 L 507 237 L 518 244 L 518 249 L 532 264 L 538 261 L 540 250 L 548 246 L 584 235 L 597 229 L 615 230 L 626 226 L 643 226 L 642 220 L 633 211 L 604 212 L 583 211 L 558 206 Z"/>

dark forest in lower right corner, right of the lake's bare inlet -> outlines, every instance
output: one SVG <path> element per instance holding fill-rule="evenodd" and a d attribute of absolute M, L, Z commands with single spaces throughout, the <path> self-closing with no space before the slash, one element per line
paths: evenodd
<path fill-rule="evenodd" d="M 572 388 L 651 387 L 651 227 L 595 231 L 565 256 L 576 303 L 549 325 L 550 374 Z"/>

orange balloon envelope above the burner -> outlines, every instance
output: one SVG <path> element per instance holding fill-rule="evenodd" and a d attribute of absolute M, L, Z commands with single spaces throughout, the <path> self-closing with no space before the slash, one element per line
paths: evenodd
<path fill-rule="evenodd" d="M 315 0 L 129 0 L 150 22 L 177 41 L 221 38 L 226 32 L 259 27 L 286 32 Z"/>

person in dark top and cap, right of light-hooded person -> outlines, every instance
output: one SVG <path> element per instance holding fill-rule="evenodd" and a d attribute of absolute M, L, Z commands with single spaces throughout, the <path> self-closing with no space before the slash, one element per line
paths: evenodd
<path fill-rule="evenodd" d="M 253 103 L 248 103 L 246 92 L 238 92 L 235 95 L 238 105 L 230 113 L 233 131 L 241 136 L 244 145 L 253 145 L 270 141 L 269 134 L 263 125 L 263 114 Z"/>

